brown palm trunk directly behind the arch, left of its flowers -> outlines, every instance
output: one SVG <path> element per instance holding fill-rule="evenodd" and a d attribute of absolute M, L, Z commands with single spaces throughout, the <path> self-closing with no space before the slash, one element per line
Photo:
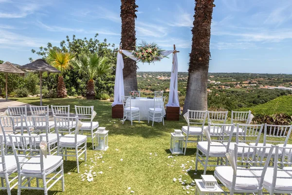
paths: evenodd
<path fill-rule="evenodd" d="M 121 0 L 121 43 L 122 49 L 125 50 L 135 50 L 135 19 L 137 18 L 135 12 L 137 11 L 136 8 L 138 7 L 135 1 L 136 0 Z M 124 58 L 123 77 L 125 94 L 128 94 L 130 91 L 138 90 L 136 61 L 129 58 Z"/>

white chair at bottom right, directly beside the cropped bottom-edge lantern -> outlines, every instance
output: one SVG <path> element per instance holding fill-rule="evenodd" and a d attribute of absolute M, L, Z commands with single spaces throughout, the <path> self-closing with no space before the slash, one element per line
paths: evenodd
<path fill-rule="evenodd" d="M 227 153 L 230 154 L 228 160 L 231 166 L 217 166 L 215 177 L 228 188 L 230 195 L 235 193 L 262 195 L 264 176 L 268 168 L 266 161 L 269 162 L 272 156 L 271 147 L 235 144 L 234 151 L 230 150 Z M 265 155 L 265 151 L 270 151 L 268 156 Z M 262 174 L 255 175 L 254 172 L 259 170 Z"/>

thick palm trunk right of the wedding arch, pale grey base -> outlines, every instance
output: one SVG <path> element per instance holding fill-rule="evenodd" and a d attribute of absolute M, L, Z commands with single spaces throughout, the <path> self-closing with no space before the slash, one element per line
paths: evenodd
<path fill-rule="evenodd" d="M 211 20 L 214 0 L 195 0 L 192 51 L 188 69 L 183 114 L 187 110 L 207 110 L 207 80 L 210 59 Z"/>

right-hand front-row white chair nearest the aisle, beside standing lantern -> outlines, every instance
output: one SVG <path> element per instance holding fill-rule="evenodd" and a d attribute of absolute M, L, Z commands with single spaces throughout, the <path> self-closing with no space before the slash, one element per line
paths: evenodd
<path fill-rule="evenodd" d="M 201 141 L 207 112 L 208 111 L 187 110 L 187 112 L 183 115 L 185 121 L 187 122 L 187 126 L 182 127 L 182 131 L 186 135 L 184 140 L 185 146 L 183 155 L 185 155 L 188 142 L 193 143 Z M 197 140 L 189 140 L 189 138 L 197 138 Z"/>

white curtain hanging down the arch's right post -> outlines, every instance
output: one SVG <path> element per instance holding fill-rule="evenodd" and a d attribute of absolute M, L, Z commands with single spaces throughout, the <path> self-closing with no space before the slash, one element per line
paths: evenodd
<path fill-rule="evenodd" d="M 177 53 L 175 52 L 173 53 L 170 86 L 169 86 L 169 97 L 168 97 L 168 103 L 166 104 L 166 106 L 180 107 L 179 93 L 178 93 L 178 65 L 179 65 L 178 57 L 177 57 Z"/>

